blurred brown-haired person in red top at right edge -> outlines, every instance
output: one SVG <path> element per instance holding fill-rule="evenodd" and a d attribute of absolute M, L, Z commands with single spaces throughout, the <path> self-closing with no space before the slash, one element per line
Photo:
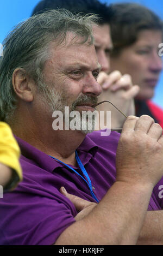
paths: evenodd
<path fill-rule="evenodd" d="M 140 86 L 135 97 L 136 116 L 149 115 L 163 127 L 163 110 L 151 101 L 162 70 L 158 52 L 163 23 L 139 4 L 113 4 L 112 9 L 110 69 L 130 74 L 133 83 Z"/>

